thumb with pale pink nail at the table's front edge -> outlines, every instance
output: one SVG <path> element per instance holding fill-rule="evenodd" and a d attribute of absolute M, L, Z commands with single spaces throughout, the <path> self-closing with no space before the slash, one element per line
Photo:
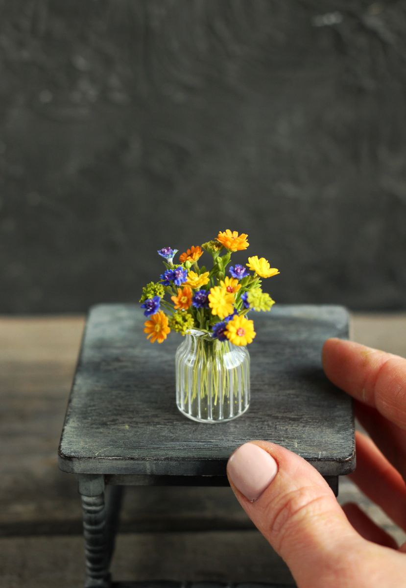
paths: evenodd
<path fill-rule="evenodd" d="M 326 480 L 284 447 L 265 441 L 241 445 L 229 459 L 227 476 L 240 505 L 300 588 L 334 586 L 346 554 L 352 559 L 362 549 L 364 540 Z"/>

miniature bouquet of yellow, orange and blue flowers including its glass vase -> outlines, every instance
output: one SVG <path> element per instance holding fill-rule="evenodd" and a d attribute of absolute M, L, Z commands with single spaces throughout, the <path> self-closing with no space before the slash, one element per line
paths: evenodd
<path fill-rule="evenodd" d="M 177 249 L 160 249 L 165 271 L 142 291 L 147 339 L 163 343 L 171 330 L 186 335 L 176 352 L 177 406 L 200 422 L 230 420 L 249 406 L 246 346 L 256 332 L 247 313 L 271 309 L 274 300 L 261 283 L 279 270 L 258 256 L 227 269 L 232 253 L 248 248 L 247 237 L 227 229 L 187 249 L 178 262 Z M 199 265 L 203 251 L 212 258 L 210 268 Z"/>

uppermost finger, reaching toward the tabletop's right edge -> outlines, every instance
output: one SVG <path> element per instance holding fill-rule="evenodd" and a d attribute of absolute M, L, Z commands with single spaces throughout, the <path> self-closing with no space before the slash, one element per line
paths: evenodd
<path fill-rule="evenodd" d="M 327 339 L 322 359 L 331 382 L 406 429 L 406 359 L 343 339 Z"/>

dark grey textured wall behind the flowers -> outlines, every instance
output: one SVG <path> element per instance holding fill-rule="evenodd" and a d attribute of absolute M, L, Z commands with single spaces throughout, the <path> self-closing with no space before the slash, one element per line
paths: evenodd
<path fill-rule="evenodd" d="M 218 229 L 279 302 L 406 308 L 406 2 L 0 0 L 0 312 Z"/>

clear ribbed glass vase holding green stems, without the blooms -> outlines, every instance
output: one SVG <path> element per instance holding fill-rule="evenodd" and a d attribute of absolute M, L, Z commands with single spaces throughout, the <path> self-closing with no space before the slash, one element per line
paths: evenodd
<path fill-rule="evenodd" d="M 176 403 L 201 423 L 236 419 L 250 403 L 250 354 L 245 347 L 190 330 L 176 351 Z"/>

